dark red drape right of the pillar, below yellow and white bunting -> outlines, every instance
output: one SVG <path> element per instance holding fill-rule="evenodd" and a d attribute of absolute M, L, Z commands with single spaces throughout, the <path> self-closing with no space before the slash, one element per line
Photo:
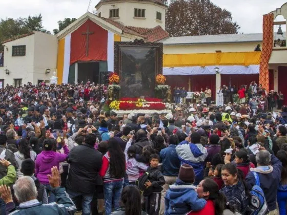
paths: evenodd
<path fill-rule="evenodd" d="M 235 87 L 239 89 L 241 85 L 250 85 L 252 81 L 258 84 L 259 74 L 249 74 L 249 75 L 221 75 L 221 86 L 226 85 L 229 87 L 235 84 Z M 218 89 L 217 89 L 218 90 Z"/>

